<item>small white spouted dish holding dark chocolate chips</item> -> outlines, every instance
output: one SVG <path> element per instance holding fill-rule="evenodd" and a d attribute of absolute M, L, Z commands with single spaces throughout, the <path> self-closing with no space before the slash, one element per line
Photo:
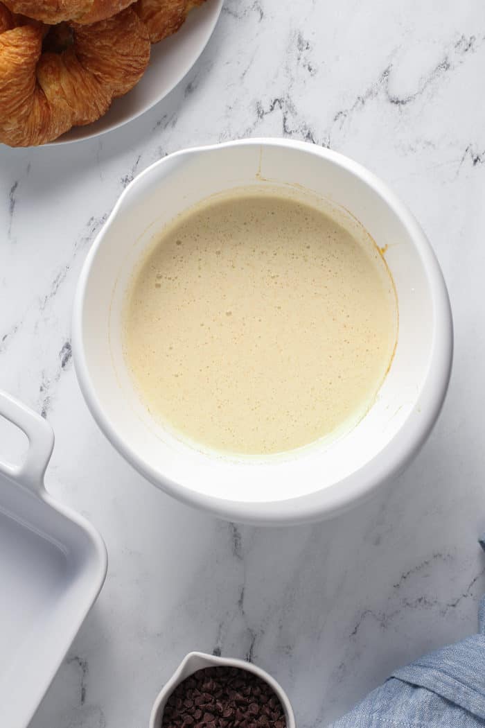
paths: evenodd
<path fill-rule="evenodd" d="M 177 685 L 180 685 L 185 678 L 193 675 L 193 673 L 196 673 L 197 670 L 202 670 L 204 668 L 239 668 L 240 670 L 246 670 L 246 672 L 257 675 L 257 677 L 268 683 L 283 706 L 286 718 L 286 728 L 295 728 L 293 708 L 292 704 L 289 702 L 286 692 L 284 692 L 281 685 L 278 684 L 267 672 L 265 672 L 265 670 L 253 665 L 252 662 L 233 660 L 229 657 L 215 657 L 212 654 L 204 654 L 204 652 L 190 652 L 186 655 L 186 657 L 184 657 L 177 670 L 175 670 L 175 673 L 161 689 L 159 695 L 157 695 L 151 711 L 148 728 L 161 728 L 165 705 Z"/>

